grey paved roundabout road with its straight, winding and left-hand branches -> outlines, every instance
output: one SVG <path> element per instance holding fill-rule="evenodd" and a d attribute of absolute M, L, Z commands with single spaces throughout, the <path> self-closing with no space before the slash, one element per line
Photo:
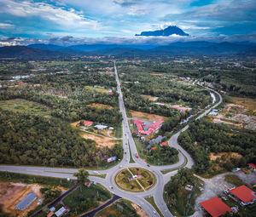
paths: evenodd
<path fill-rule="evenodd" d="M 163 198 L 163 191 L 164 191 L 164 186 L 166 183 L 170 180 L 172 175 L 177 174 L 177 169 L 181 168 L 183 166 L 186 166 L 187 168 L 192 168 L 194 162 L 192 157 L 190 157 L 189 153 L 181 146 L 178 145 L 177 143 L 177 137 L 179 134 L 181 134 L 184 130 L 189 128 L 189 124 L 187 124 L 184 128 L 182 128 L 177 134 L 174 134 L 172 138 L 169 140 L 168 144 L 169 146 L 175 147 L 179 153 L 179 161 L 177 163 L 174 163 L 172 165 L 166 165 L 166 166 L 147 166 L 147 163 L 145 163 L 141 158 L 135 157 L 135 154 L 137 153 L 137 147 L 135 145 L 135 142 L 132 138 L 131 135 L 131 130 L 129 128 L 129 123 L 128 123 L 128 118 L 126 116 L 126 111 L 125 111 L 125 104 L 123 100 L 123 94 L 121 91 L 120 83 L 119 83 L 119 76 L 118 76 L 118 71 L 115 66 L 114 62 L 114 71 L 115 71 L 115 77 L 116 77 L 116 82 L 117 82 L 117 91 L 119 93 L 119 107 L 120 111 L 123 116 L 123 122 L 122 122 L 122 127 L 123 127 L 123 147 L 124 147 L 124 156 L 122 161 L 115 167 L 113 168 L 108 168 L 105 170 L 97 170 L 97 171 L 92 171 L 89 170 L 90 174 L 107 174 L 105 179 L 102 179 L 100 177 L 96 176 L 90 176 L 90 180 L 96 181 L 97 183 L 100 183 L 102 186 L 105 186 L 108 188 L 109 191 L 111 191 L 113 194 L 123 197 L 125 199 L 128 199 L 134 203 L 137 203 L 143 210 L 148 214 L 148 216 L 160 216 L 154 207 L 148 203 L 148 201 L 145 200 L 146 197 L 154 197 L 154 201 L 157 205 L 157 207 L 160 209 L 161 214 L 163 214 L 165 217 L 173 216 L 172 213 L 169 211 L 169 209 L 166 206 L 166 203 Z M 216 91 L 209 89 L 215 94 L 218 94 Z M 218 106 L 222 102 L 222 97 L 220 94 L 219 96 L 219 101 L 217 104 L 209 108 L 207 111 L 204 111 L 199 117 L 196 119 L 199 119 L 201 117 L 204 117 L 207 115 L 209 111 L 212 110 L 212 108 Z M 130 150 L 129 146 L 130 144 L 131 147 L 131 157 L 135 161 L 135 163 L 129 163 L 130 162 Z M 126 154 L 125 154 L 126 152 Z M 129 167 L 141 167 L 141 168 L 146 168 L 150 170 L 152 173 L 154 173 L 156 177 L 156 185 L 151 188 L 148 191 L 143 191 L 143 192 L 130 192 L 130 191 L 123 191 L 119 189 L 118 186 L 114 184 L 113 178 L 114 175 L 119 172 L 120 169 L 123 168 L 129 168 Z M 162 174 L 160 171 L 161 170 L 174 170 L 170 173 L 167 174 Z M 76 179 L 73 176 L 73 173 L 78 172 L 78 169 L 73 169 L 73 168 L 46 168 L 46 167 L 24 167 L 24 166 L 0 166 L 0 170 L 2 171 L 9 171 L 9 172 L 14 172 L 14 173 L 22 173 L 22 174 L 35 174 L 35 175 L 44 175 L 44 176 L 51 176 L 51 177 L 58 177 L 58 178 L 69 178 L 69 179 Z"/>

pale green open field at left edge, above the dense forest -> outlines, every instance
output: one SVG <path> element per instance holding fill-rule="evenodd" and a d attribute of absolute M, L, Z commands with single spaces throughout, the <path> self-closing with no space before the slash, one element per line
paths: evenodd
<path fill-rule="evenodd" d="M 46 106 L 22 99 L 0 101 L 0 107 L 5 111 L 28 112 L 36 116 L 47 117 L 50 115 L 50 110 Z"/>

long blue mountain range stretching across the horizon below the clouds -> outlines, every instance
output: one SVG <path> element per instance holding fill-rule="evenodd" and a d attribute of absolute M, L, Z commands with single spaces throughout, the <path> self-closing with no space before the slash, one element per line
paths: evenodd
<path fill-rule="evenodd" d="M 80 44 L 58 46 L 55 44 L 31 44 L 28 46 L 9 46 L 0 48 L 0 57 L 44 58 L 86 54 L 134 55 L 204 55 L 204 54 L 243 54 L 255 55 L 253 43 L 211 43 L 205 41 L 177 42 L 165 46 L 143 44 Z"/>

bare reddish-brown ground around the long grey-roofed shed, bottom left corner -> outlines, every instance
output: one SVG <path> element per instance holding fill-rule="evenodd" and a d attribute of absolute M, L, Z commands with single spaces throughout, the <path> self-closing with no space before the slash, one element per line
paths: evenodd
<path fill-rule="evenodd" d="M 27 193 L 34 192 L 38 197 L 42 198 L 40 188 L 38 184 L 23 184 L 13 182 L 1 182 L 0 183 L 0 204 L 2 204 L 2 210 L 5 213 L 11 213 L 13 216 L 26 216 L 26 214 L 38 206 L 38 200 L 34 201 L 31 206 L 23 211 L 15 210 L 15 205 L 20 203 L 21 199 L 26 197 Z"/>

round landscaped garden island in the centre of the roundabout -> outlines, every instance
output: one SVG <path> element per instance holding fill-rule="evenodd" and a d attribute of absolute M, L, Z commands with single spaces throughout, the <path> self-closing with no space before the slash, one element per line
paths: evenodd
<path fill-rule="evenodd" d="M 114 181 L 125 191 L 148 191 L 155 185 L 155 176 L 145 168 L 124 168 L 115 176 Z"/>

